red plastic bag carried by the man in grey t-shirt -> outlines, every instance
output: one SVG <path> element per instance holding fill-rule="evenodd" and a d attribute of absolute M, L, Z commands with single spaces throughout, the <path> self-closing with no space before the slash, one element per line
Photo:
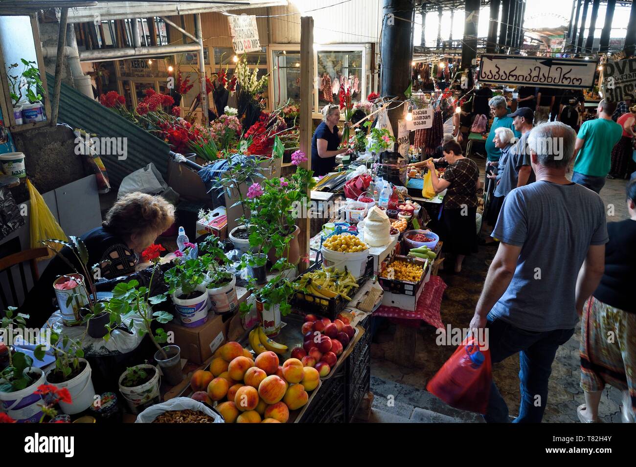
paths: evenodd
<path fill-rule="evenodd" d="M 478 365 L 481 353 L 483 363 Z M 472 335 L 455 350 L 426 385 L 427 391 L 455 409 L 485 414 L 492 383 L 490 349 L 481 350 Z"/>

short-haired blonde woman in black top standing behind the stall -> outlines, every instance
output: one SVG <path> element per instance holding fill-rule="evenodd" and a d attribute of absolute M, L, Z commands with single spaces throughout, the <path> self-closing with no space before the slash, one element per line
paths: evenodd
<path fill-rule="evenodd" d="M 342 133 L 338 131 L 340 107 L 328 104 L 322 107 L 322 122 L 317 126 L 312 137 L 312 170 L 315 177 L 326 175 L 336 166 L 336 156 L 347 152 L 340 146 Z M 347 123 L 345 123 L 347 125 Z"/>

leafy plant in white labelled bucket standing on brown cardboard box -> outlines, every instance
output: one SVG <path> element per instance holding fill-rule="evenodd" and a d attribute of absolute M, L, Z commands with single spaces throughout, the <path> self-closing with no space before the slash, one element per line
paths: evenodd
<path fill-rule="evenodd" d="M 169 287 L 168 294 L 172 297 L 179 319 L 186 327 L 196 327 L 205 323 L 209 309 L 205 274 L 212 257 L 190 257 L 192 251 L 193 248 L 188 247 L 184 252 L 174 252 L 177 256 L 174 266 L 164 275 Z"/>

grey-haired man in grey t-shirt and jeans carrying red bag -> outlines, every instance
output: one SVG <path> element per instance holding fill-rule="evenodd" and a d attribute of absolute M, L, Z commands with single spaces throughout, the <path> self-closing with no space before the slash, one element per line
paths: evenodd
<path fill-rule="evenodd" d="M 504 200 L 492 233 L 501 243 L 470 325 L 488 327 L 493 363 L 520 354 L 516 423 L 541 422 L 556 349 L 574 334 L 604 270 L 603 201 L 565 178 L 575 139 L 574 130 L 560 122 L 530 133 L 537 181 L 513 189 Z M 508 421 L 508 407 L 494 383 L 485 419 Z"/>

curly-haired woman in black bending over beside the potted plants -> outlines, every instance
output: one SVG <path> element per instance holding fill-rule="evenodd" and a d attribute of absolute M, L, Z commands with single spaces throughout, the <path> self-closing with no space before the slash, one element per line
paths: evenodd
<path fill-rule="evenodd" d="M 161 196 L 139 192 L 122 196 L 106 213 L 101 227 L 80 236 L 88 250 L 88 267 L 99 264 L 99 276 L 106 279 L 134 273 L 141 252 L 155 243 L 173 222 L 174 206 Z M 67 261 L 81 271 L 73 252 L 68 247 L 62 248 L 18 310 L 30 316 L 30 327 L 41 327 L 57 308 L 53 281 L 75 272 Z"/>

